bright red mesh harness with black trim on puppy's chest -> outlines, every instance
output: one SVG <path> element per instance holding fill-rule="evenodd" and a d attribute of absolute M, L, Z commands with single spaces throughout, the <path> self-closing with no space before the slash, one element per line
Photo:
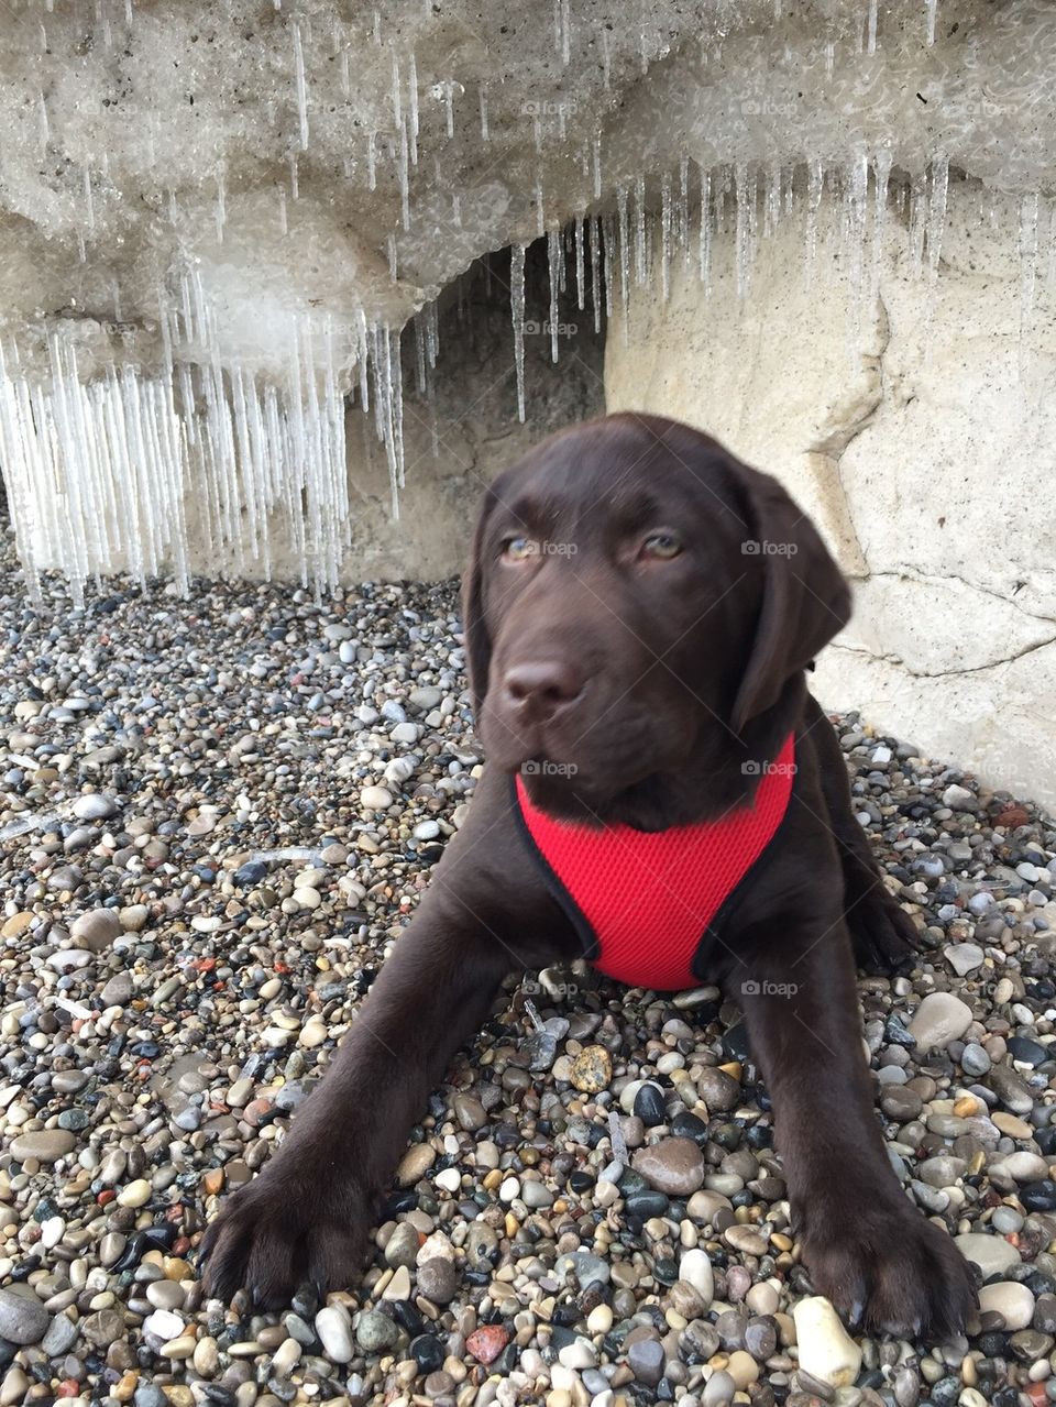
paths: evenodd
<path fill-rule="evenodd" d="M 520 832 L 554 898 L 606 976 L 658 992 L 703 979 L 734 892 L 764 858 L 789 808 L 794 775 L 790 733 L 751 806 L 671 830 L 585 826 L 532 805 L 520 777 Z"/>

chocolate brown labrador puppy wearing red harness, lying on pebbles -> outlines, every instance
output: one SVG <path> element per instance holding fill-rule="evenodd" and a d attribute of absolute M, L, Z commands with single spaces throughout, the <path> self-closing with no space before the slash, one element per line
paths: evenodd
<path fill-rule="evenodd" d="M 967 1263 L 900 1188 L 862 1052 L 855 958 L 893 969 L 914 929 L 806 687 L 849 611 L 780 484 L 686 425 L 607 416 L 502 474 L 464 582 L 488 767 L 321 1089 L 208 1228 L 211 1294 L 349 1285 L 502 979 L 586 954 L 740 1003 L 820 1293 L 873 1330 L 963 1328 Z"/>

